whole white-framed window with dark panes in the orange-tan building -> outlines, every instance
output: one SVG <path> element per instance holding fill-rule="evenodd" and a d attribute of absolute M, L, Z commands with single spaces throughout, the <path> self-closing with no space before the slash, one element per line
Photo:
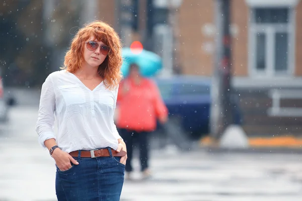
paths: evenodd
<path fill-rule="evenodd" d="M 250 66 L 253 76 L 289 76 L 294 65 L 294 22 L 290 8 L 251 9 Z"/>

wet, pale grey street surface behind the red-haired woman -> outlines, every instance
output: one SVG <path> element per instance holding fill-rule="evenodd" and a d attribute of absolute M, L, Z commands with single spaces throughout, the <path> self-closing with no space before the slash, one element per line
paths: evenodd
<path fill-rule="evenodd" d="M 37 107 L 17 106 L 0 125 L 0 201 L 56 200 L 54 161 L 38 144 Z M 133 161 L 136 170 L 138 160 Z M 153 177 L 124 183 L 121 200 L 301 200 L 299 154 L 153 150 Z"/>

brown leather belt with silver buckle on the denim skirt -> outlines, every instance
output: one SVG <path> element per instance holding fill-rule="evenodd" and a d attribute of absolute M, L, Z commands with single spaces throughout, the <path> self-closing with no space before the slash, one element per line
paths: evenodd
<path fill-rule="evenodd" d="M 112 153 L 112 156 L 119 156 L 119 157 L 127 154 L 127 152 L 125 152 L 123 150 L 121 150 L 120 152 L 117 152 L 113 149 L 111 149 L 111 153 Z M 79 151 L 72 151 L 69 154 L 72 157 L 78 157 Z M 81 157 L 84 157 L 84 158 L 96 158 L 96 157 L 108 157 L 108 156 L 110 156 L 108 149 L 96 149 L 96 150 L 91 150 L 91 151 L 81 150 Z"/>

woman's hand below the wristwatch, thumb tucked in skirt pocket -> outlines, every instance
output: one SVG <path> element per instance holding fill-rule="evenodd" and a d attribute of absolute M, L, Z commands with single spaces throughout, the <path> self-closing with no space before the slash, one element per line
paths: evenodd
<path fill-rule="evenodd" d="M 64 152 L 60 149 L 53 150 L 52 157 L 55 160 L 55 164 L 61 171 L 70 169 L 72 167 L 71 163 L 74 165 L 79 165 L 78 161 L 74 160 L 74 158 L 72 158 L 72 156 L 70 156 L 67 152 Z"/>

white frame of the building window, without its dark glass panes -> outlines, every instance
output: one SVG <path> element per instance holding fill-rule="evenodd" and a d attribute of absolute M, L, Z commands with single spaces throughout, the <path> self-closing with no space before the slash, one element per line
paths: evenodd
<path fill-rule="evenodd" d="M 288 9 L 288 23 L 265 23 L 256 24 L 255 22 L 255 12 L 257 8 L 265 8 L 253 6 L 250 12 L 250 22 L 249 22 L 249 75 L 252 77 L 292 77 L 294 74 L 294 42 L 295 42 L 295 12 L 292 7 L 280 7 Z M 266 8 L 274 8 L 272 6 L 267 6 Z M 287 54 L 287 69 L 276 73 L 275 70 L 275 34 L 276 33 L 287 33 L 288 34 L 288 54 Z M 266 36 L 266 68 L 264 71 L 257 70 L 256 68 L 256 37 L 257 33 L 264 33 Z"/>

